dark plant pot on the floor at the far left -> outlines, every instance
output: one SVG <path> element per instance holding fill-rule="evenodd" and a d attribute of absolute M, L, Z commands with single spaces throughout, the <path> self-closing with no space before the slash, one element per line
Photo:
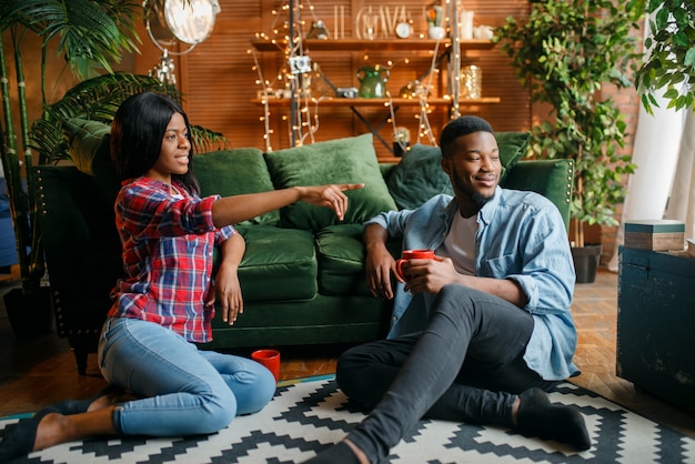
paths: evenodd
<path fill-rule="evenodd" d="M 4 294 L 4 309 L 18 339 L 43 335 L 53 326 L 51 291 L 48 286 L 41 286 L 30 295 L 24 295 L 22 289 L 10 290 Z"/>

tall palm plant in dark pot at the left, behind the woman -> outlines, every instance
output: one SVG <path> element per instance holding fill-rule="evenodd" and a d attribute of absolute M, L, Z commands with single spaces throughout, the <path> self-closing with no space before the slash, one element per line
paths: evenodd
<path fill-rule="evenodd" d="M 188 1 L 188 0 L 182 0 Z M 21 289 L 4 295 L 10 322 L 17 334 L 30 334 L 37 320 L 49 314 L 48 288 L 44 275 L 41 233 L 34 216 L 37 205 L 33 191 L 32 167 L 69 159 L 62 134 L 61 121 L 69 118 L 95 119 L 110 122 L 120 102 L 144 90 L 155 90 L 178 98 L 175 89 L 154 78 L 113 72 L 111 64 L 123 52 L 137 52 L 139 41 L 134 24 L 142 20 L 142 3 L 135 0 L 14 0 L 0 3 L 0 94 L 2 123 L 0 127 L 0 158 L 7 178 L 11 203 Z M 26 75 L 22 46 L 28 34 L 41 38 L 40 50 L 31 58 L 41 57 L 40 75 Z M 3 38 L 9 37 L 17 82 L 36 79 L 40 89 L 42 115 L 30 122 L 26 88 L 18 85 L 14 98 L 19 105 L 17 120 L 11 107 L 12 95 L 8 75 Z M 49 63 L 48 44 L 59 41 L 59 54 L 64 54 L 67 65 L 79 82 L 59 101 L 49 103 L 46 92 L 46 69 Z M 19 128 L 20 135 L 14 133 Z M 201 130 L 195 135 L 220 134 Z M 46 325 L 46 324 L 41 324 Z M 39 327 L 37 332 L 42 329 Z"/>

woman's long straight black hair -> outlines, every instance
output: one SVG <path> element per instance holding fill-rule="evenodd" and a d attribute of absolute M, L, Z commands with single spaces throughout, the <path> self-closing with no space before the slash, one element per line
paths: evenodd
<path fill-rule="evenodd" d="M 121 103 L 111 123 L 111 160 L 122 180 L 148 172 L 159 158 L 167 125 L 174 113 L 185 121 L 191 150 L 185 174 L 172 174 L 191 193 L 200 194 L 193 174 L 193 142 L 189 119 L 179 104 L 167 95 L 145 92 L 129 97 Z"/>

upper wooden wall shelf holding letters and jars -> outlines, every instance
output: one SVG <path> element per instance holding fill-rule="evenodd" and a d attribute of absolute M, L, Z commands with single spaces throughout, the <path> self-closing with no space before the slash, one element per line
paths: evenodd
<path fill-rule="evenodd" d="M 302 47 L 308 51 L 412 51 L 434 50 L 436 42 L 433 39 L 304 39 Z M 286 41 L 252 39 L 251 44 L 259 51 L 280 51 L 285 49 Z M 495 47 L 494 42 L 484 39 L 461 40 L 460 44 L 462 50 L 491 50 Z M 440 49 L 444 50 L 450 47 L 451 39 L 440 41 Z"/>

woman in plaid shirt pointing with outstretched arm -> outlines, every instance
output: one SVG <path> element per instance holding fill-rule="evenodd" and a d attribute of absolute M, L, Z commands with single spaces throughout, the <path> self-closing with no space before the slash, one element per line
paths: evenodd
<path fill-rule="evenodd" d="M 111 157 L 123 179 L 115 222 L 127 278 L 112 292 L 98 355 L 115 389 L 58 403 L 9 426 L 0 462 L 92 435 L 214 433 L 238 414 L 260 411 L 274 394 L 273 375 L 245 357 L 194 344 L 212 340 L 215 300 L 229 324 L 243 312 L 236 271 L 245 245 L 232 224 L 295 201 L 331 208 L 342 220 L 343 191 L 363 186 L 201 199 L 188 118 L 155 93 L 131 97 L 119 108 Z M 222 259 L 213 279 L 214 245 Z"/>

